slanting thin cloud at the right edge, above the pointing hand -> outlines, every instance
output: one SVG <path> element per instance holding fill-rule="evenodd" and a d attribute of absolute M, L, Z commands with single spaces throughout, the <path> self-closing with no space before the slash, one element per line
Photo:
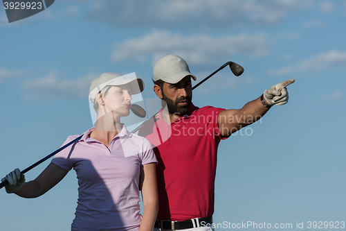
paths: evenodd
<path fill-rule="evenodd" d="M 282 67 L 280 69 L 271 70 L 269 74 L 272 76 L 283 76 L 293 73 L 306 73 L 306 72 L 320 72 L 331 67 L 346 66 L 346 52 L 342 51 L 328 51 L 316 55 L 307 60 L 303 60 L 295 66 Z"/>

